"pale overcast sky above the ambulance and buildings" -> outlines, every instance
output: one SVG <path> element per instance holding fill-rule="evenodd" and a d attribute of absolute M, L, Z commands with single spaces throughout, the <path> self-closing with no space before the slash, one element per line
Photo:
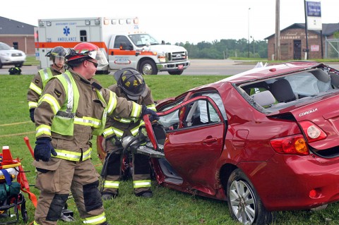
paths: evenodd
<path fill-rule="evenodd" d="M 338 0 L 321 0 L 322 23 L 339 23 L 338 10 Z M 275 33 L 275 0 L 2 0 L 0 16 L 30 25 L 48 18 L 138 17 L 141 30 L 172 44 L 263 40 Z M 304 0 L 280 0 L 280 30 L 293 23 L 305 23 Z"/>

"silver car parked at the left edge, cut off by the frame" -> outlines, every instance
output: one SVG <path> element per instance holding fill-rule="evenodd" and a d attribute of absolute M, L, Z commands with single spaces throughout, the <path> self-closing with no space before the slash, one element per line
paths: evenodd
<path fill-rule="evenodd" d="M 4 42 L 0 42 L 0 68 L 4 65 L 21 67 L 25 60 L 25 52 L 14 49 Z"/>

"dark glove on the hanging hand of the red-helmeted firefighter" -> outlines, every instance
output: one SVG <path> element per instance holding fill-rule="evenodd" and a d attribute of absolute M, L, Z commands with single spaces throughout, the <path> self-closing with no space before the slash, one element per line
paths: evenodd
<path fill-rule="evenodd" d="M 37 162 L 39 162 L 40 159 L 43 162 L 48 162 L 51 158 L 51 154 L 53 154 L 54 157 L 57 156 L 57 152 L 55 152 L 49 138 L 37 138 L 35 144 L 34 158 Z"/>

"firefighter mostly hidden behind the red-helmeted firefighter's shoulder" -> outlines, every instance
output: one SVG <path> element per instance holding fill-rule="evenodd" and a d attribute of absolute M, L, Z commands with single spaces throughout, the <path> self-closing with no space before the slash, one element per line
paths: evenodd
<path fill-rule="evenodd" d="M 46 85 L 49 78 L 54 75 L 64 73 L 64 63 L 66 50 L 64 47 L 54 47 L 51 51 L 47 52 L 47 57 L 52 61 L 51 66 L 48 68 L 41 69 L 37 72 L 37 75 L 30 82 L 30 88 L 28 89 L 27 101 L 28 109 L 30 110 L 30 120 L 34 123 L 34 110 L 37 107 L 37 102 L 40 99 L 42 90 Z"/>

